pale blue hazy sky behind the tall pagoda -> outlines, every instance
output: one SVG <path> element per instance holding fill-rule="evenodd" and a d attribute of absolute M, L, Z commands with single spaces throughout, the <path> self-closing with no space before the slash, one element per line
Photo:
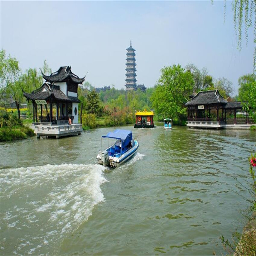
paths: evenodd
<path fill-rule="evenodd" d="M 136 50 L 137 84 L 153 87 L 161 68 L 193 63 L 214 79 L 253 71 L 253 28 L 237 50 L 232 1 L 3 1 L 0 48 L 20 68 L 70 66 L 94 87 L 125 89 L 126 48 Z"/>

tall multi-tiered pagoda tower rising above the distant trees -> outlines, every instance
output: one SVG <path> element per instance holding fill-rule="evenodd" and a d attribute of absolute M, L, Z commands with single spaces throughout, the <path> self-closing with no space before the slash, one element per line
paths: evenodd
<path fill-rule="evenodd" d="M 131 45 L 127 50 L 127 58 L 126 58 L 126 90 L 137 90 L 137 85 L 136 85 L 136 63 L 135 63 L 135 50 L 132 48 L 132 40 L 131 40 Z"/>

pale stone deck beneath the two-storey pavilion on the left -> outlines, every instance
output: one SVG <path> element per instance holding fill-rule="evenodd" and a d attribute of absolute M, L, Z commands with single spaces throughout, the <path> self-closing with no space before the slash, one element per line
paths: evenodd
<path fill-rule="evenodd" d="M 82 124 L 52 124 L 52 123 L 33 123 L 30 127 L 34 130 L 37 138 L 41 136 L 60 138 L 64 136 L 80 135 L 83 131 Z"/>

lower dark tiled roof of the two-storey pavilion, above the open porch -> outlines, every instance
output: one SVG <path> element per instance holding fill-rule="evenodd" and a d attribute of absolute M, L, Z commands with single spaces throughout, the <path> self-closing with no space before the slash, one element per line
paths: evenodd
<path fill-rule="evenodd" d="M 41 87 L 27 93 L 23 91 L 23 95 L 28 100 L 49 100 L 52 98 L 55 101 L 68 101 L 68 102 L 80 102 L 77 97 L 66 96 L 60 91 L 59 85 L 53 85 L 49 83 L 44 83 Z"/>

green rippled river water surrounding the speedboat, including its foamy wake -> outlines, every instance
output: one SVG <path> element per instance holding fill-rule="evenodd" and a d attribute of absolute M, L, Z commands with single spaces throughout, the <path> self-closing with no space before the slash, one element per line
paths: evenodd
<path fill-rule="evenodd" d="M 0 143 L 1 255 L 225 254 L 220 236 L 246 223 L 235 178 L 251 181 L 256 132 L 119 128 L 140 146 L 111 171 L 95 158 L 113 127 Z"/>

